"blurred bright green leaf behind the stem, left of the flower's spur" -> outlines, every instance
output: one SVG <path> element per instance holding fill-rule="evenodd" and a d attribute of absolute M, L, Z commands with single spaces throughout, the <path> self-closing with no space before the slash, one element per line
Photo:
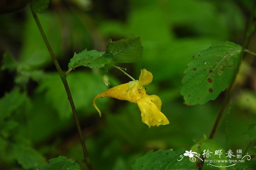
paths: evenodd
<path fill-rule="evenodd" d="M 92 106 L 93 98 L 108 88 L 102 83 L 101 76 L 77 71 L 69 74 L 67 81 L 76 109 L 83 111 L 86 115 L 96 113 L 97 111 Z M 72 116 L 67 93 L 58 73 L 46 75 L 45 80 L 39 85 L 37 91 L 44 92 L 45 100 L 56 109 L 61 119 Z M 98 105 L 104 105 L 103 103 L 107 100 L 98 101 Z"/>

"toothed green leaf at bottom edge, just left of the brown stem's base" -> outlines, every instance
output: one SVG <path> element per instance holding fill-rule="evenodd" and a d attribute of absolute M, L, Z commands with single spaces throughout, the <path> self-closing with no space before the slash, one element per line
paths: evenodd
<path fill-rule="evenodd" d="M 39 167 L 38 170 L 80 170 L 80 165 L 65 156 L 59 156 L 49 160 L 50 163 Z"/>

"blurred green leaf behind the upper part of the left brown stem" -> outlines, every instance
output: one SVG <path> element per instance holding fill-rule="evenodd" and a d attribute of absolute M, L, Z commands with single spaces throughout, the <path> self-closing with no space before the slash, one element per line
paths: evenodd
<path fill-rule="evenodd" d="M 45 30 L 45 35 L 56 55 L 59 57 L 64 51 L 61 45 L 61 26 L 58 18 L 54 17 L 50 11 L 45 12 L 44 15 L 38 15 L 38 18 Z M 22 46 L 20 48 L 20 63 L 29 65 L 31 69 L 52 64 L 52 58 L 47 50 L 44 40 L 37 25 L 35 24 L 33 16 L 27 14 L 27 19 L 24 24 L 24 31 L 22 34 Z"/>

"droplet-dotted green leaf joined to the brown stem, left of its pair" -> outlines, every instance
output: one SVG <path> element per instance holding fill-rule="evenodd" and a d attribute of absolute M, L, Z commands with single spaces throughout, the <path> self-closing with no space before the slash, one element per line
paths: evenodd
<path fill-rule="evenodd" d="M 76 68 L 81 65 L 90 68 L 102 68 L 105 64 L 109 64 L 113 58 L 113 54 L 109 52 L 98 52 L 97 50 L 87 49 L 83 50 L 81 53 L 74 54 L 68 63 L 68 69 Z"/>

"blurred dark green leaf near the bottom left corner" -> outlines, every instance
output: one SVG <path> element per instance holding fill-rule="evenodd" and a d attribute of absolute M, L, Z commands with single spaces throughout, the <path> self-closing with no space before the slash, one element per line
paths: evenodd
<path fill-rule="evenodd" d="M 31 169 L 45 163 L 44 157 L 29 146 L 22 144 L 13 145 L 14 155 L 24 169 Z"/>

